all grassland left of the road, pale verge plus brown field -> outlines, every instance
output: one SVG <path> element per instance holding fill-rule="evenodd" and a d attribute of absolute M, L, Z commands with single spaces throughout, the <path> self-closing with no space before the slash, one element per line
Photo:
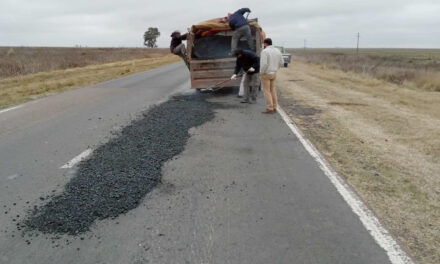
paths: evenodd
<path fill-rule="evenodd" d="M 0 48 L 0 54 L 0 109 L 179 61 L 168 49 Z"/>

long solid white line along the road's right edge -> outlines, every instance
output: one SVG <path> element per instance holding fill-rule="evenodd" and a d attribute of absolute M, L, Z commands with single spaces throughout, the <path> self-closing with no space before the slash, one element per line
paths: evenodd
<path fill-rule="evenodd" d="M 313 144 L 304 137 L 299 128 L 284 112 L 281 107 L 277 108 L 278 113 L 286 122 L 287 126 L 298 137 L 305 149 L 318 162 L 319 167 L 330 179 L 331 183 L 336 187 L 338 192 L 350 206 L 351 210 L 358 215 L 364 227 L 370 232 L 374 240 L 381 246 L 388 255 L 393 264 L 413 264 L 411 258 L 400 248 L 390 233 L 381 225 L 377 217 L 368 207 L 361 201 L 345 181 L 337 174 Z"/>

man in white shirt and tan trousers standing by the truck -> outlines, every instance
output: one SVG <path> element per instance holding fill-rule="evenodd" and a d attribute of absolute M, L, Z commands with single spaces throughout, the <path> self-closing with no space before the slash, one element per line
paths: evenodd
<path fill-rule="evenodd" d="M 272 46 L 272 39 L 266 38 L 263 42 L 264 50 L 260 59 L 260 79 L 266 98 L 266 110 L 263 114 L 274 114 L 277 111 L 278 99 L 275 89 L 275 78 L 278 69 L 284 65 L 283 55 Z"/>

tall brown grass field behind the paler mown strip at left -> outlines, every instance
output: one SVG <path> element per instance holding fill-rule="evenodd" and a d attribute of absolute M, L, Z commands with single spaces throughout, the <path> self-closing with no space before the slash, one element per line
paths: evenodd
<path fill-rule="evenodd" d="M 0 78 L 116 61 L 153 58 L 168 49 L 0 47 Z"/>

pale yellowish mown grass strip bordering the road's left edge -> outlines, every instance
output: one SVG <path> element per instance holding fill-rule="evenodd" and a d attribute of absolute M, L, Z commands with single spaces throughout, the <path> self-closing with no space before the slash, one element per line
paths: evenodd
<path fill-rule="evenodd" d="M 144 59 L 5 78 L 0 80 L 0 109 L 66 89 L 96 84 L 176 61 L 179 61 L 179 57 L 174 55 L 154 55 Z"/>

